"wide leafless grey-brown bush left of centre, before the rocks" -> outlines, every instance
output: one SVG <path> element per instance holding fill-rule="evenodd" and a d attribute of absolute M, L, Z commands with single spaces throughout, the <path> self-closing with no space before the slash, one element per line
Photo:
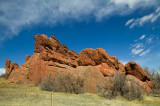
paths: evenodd
<path fill-rule="evenodd" d="M 67 74 L 57 73 L 54 81 L 52 81 L 51 75 L 49 75 L 40 84 L 42 90 L 75 94 L 83 93 L 83 86 L 84 79 L 80 76 L 74 76 L 69 72 Z"/>

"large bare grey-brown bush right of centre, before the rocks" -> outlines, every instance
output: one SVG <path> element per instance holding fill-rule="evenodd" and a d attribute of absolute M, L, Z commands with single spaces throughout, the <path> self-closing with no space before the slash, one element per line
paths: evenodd
<path fill-rule="evenodd" d="M 106 85 L 108 81 L 111 86 Z M 117 71 L 114 73 L 114 77 L 108 81 L 101 86 L 97 85 L 100 96 L 112 99 L 120 95 L 128 100 L 142 99 L 140 85 L 136 84 L 134 79 L 131 80 L 129 85 L 126 81 L 126 75 Z"/>

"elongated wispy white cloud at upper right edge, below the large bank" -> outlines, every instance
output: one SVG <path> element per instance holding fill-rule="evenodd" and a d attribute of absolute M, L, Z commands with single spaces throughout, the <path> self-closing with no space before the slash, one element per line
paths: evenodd
<path fill-rule="evenodd" d="M 130 19 L 126 22 L 125 26 L 133 28 L 135 26 L 143 26 L 145 23 L 154 23 L 160 17 L 160 7 L 158 7 L 153 13 L 145 15 L 141 18 Z M 131 21 L 132 20 L 132 21 Z"/>

